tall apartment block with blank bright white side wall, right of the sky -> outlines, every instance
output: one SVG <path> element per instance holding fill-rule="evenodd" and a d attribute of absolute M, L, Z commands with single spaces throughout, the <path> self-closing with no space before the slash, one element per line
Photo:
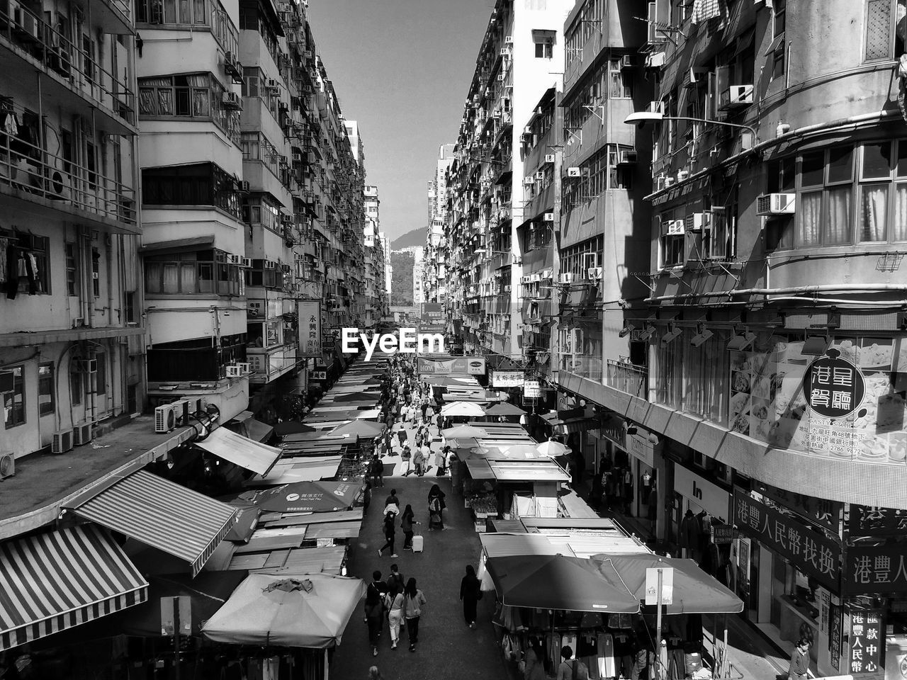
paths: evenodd
<path fill-rule="evenodd" d="M 448 313 L 463 318 L 467 352 L 522 355 L 517 229 L 537 180 L 526 174 L 520 150 L 542 95 L 561 82 L 563 22 L 571 6 L 499 0 L 476 60 L 448 172 L 445 218 Z"/>

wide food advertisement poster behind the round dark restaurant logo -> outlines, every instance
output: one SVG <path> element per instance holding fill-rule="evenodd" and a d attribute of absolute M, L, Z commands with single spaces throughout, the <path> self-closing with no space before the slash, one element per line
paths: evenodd
<path fill-rule="evenodd" d="M 760 334 L 730 353 L 728 427 L 782 449 L 904 464 L 907 384 L 892 376 L 907 372 L 907 341 L 833 339 L 836 357 L 803 345 Z"/>

